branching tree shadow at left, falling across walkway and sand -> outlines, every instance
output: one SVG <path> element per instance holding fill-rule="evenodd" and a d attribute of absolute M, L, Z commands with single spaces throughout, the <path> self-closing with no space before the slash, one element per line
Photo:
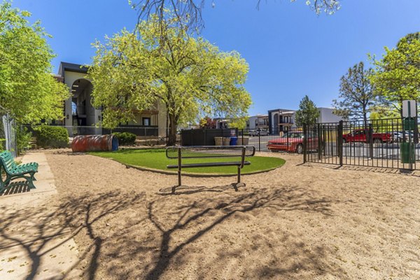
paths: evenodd
<path fill-rule="evenodd" d="M 99 195 L 86 193 L 78 197 L 62 197 L 62 201 L 64 201 L 62 204 L 52 208 L 43 206 L 18 209 L 18 211 L 8 211 L 6 207 L 0 208 L 0 251 L 20 246 L 26 252 L 31 260 L 30 273 L 26 279 L 34 279 L 39 272 L 41 260 L 48 253 L 82 232 L 85 232 L 92 242 L 87 248 L 81 248 L 84 252 L 79 256 L 78 262 L 62 273 L 62 279 L 87 258 L 85 269 L 87 279 L 95 279 L 104 241 L 95 231 L 95 225 L 101 223 L 106 216 L 116 215 L 119 211 L 144 202 L 144 193 L 134 195 L 118 191 Z M 30 227 L 30 235 L 25 233 L 27 232 L 25 227 Z M 59 242 L 55 237 L 61 237 Z M 53 238 L 55 238 L 54 244 L 52 244 Z"/>

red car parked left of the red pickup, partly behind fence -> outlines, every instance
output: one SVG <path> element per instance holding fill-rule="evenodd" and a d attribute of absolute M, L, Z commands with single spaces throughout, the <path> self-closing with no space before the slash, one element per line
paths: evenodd
<path fill-rule="evenodd" d="M 286 132 L 278 139 L 268 141 L 267 148 L 274 151 L 303 153 L 303 132 Z M 318 137 L 311 136 L 307 139 L 308 151 L 318 150 Z"/>

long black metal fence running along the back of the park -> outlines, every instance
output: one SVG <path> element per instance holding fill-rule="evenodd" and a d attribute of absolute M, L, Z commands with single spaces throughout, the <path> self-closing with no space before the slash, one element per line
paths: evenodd
<path fill-rule="evenodd" d="M 257 130 L 181 131 L 180 143 L 188 146 L 254 146 L 258 152 L 303 155 L 304 162 L 356 165 L 395 169 L 420 169 L 419 118 L 401 120 L 344 121 L 316 123 L 304 127 L 272 127 Z M 69 134 L 109 134 L 100 127 L 66 127 Z M 133 132 L 138 139 L 165 145 L 165 128 L 118 127 L 112 132 Z M 200 132 L 198 135 L 195 132 Z"/>

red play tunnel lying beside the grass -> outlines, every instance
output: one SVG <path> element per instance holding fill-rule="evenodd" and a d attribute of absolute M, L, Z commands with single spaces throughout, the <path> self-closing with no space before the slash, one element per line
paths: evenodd
<path fill-rule="evenodd" d="M 106 152 L 117 151 L 118 139 L 112 134 L 108 135 L 79 135 L 71 142 L 71 151 L 84 152 Z"/>

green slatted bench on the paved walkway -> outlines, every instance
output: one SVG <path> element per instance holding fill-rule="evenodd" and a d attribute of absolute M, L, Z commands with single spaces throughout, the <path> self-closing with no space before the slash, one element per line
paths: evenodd
<path fill-rule="evenodd" d="M 38 163 L 30 162 L 22 165 L 16 165 L 13 155 L 9 151 L 0 153 L 0 194 L 10 187 L 10 181 L 13 179 L 26 179 L 29 188 L 35 188 L 34 175 L 38 172 Z M 3 174 L 4 171 L 4 174 Z"/>

